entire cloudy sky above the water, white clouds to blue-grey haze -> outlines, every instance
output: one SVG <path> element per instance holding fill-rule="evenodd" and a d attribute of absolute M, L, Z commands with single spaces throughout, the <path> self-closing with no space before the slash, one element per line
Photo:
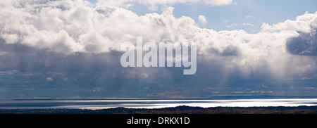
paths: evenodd
<path fill-rule="evenodd" d="M 0 1 L 0 98 L 317 96 L 317 1 Z M 120 65 L 197 43 L 197 72 Z"/>

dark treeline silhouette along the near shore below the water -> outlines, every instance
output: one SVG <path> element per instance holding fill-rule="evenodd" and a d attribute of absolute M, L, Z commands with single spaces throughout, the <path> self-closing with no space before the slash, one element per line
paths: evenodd
<path fill-rule="evenodd" d="M 298 107 L 213 107 L 82 109 L 0 109 L 0 114 L 317 114 L 317 106 Z"/>

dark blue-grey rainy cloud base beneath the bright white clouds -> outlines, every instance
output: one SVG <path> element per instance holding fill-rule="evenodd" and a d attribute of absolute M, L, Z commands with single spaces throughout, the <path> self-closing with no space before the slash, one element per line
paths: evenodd
<path fill-rule="evenodd" d="M 1 98 L 316 95 L 315 77 L 278 79 L 271 77 L 266 66 L 245 75 L 239 68 L 226 68 L 228 62 L 221 57 L 198 56 L 196 74 L 182 75 L 184 68 L 123 68 L 119 51 L 65 55 L 6 44 L 4 39 L 0 39 L 0 51 Z"/>

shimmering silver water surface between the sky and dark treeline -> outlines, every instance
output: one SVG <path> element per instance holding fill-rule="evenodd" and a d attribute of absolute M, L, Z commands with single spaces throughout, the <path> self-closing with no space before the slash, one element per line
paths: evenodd
<path fill-rule="evenodd" d="M 230 99 L 230 100 L 0 100 L 0 108 L 166 108 L 178 105 L 208 107 L 299 106 L 317 105 L 317 98 Z"/>

